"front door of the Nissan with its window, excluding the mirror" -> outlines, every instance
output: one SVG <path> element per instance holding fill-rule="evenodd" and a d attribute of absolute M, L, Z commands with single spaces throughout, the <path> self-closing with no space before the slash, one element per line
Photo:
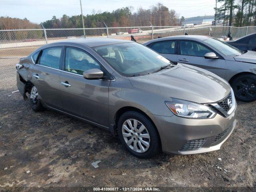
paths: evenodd
<path fill-rule="evenodd" d="M 106 79 L 88 80 L 83 72 L 98 68 Z M 79 48 L 66 47 L 60 90 L 63 110 L 86 120 L 108 126 L 108 87 L 110 76 L 106 69 L 89 53 Z"/>

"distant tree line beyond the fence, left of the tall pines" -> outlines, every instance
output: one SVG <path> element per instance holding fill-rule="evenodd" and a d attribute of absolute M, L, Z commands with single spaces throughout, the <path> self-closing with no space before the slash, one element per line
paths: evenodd
<path fill-rule="evenodd" d="M 184 18 L 184 17 L 183 17 Z M 151 6 L 149 9 L 142 7 L 134 12 L 134 7 L 124 7 L 112 12 L 87 14 L 84 16 L 85 28 L 105 27 L 130 27 L 130 26 L 176 26 L 178 25 L 178 14 L 161 3 Z M 52 19 L 42 22 L 44 28 L 82 28 L 82 16 L 67 16 L 61 18 L 52 16 Z M 0 29 L 28 29 L 41 28 L 39 24 L 33 24 L 29 20 L 1 17 Z"/>

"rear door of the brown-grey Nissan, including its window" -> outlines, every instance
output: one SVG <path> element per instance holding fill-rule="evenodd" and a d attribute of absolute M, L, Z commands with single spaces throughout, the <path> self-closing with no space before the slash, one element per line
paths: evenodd
<path fill-rule="evenodd" d="M 62 49 L 62 46 L 52 46 L 35 53 L 32 56 L 35 64 L 30 68 L 31 80 L 38 89 L 39 98 L 56 109 L 61 108 L 59 74 Z"/>

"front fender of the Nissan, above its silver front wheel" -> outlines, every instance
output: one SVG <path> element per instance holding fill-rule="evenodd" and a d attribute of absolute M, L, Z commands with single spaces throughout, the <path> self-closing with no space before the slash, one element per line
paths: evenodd
<path fill-rule="evenodd" d="M 110 124 L 114 124 L 116 112 L 123 107 L 134 107 L 146 114 L 173 116 L 165 104 L 166 100 L 168 98 L 160 94 L 134 88 L 128 79 L 117 78 L 109 87 Z"/>

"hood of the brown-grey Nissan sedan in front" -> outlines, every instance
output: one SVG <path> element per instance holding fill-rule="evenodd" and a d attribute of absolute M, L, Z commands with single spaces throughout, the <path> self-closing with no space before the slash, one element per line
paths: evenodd
<path fill-rule="evenodd" d="M 177 64 L 157 73 L 129 77 L 135 88 L 197 103 L 211 103 L 230 93 L 226 80 L 198 67 Z"/>

